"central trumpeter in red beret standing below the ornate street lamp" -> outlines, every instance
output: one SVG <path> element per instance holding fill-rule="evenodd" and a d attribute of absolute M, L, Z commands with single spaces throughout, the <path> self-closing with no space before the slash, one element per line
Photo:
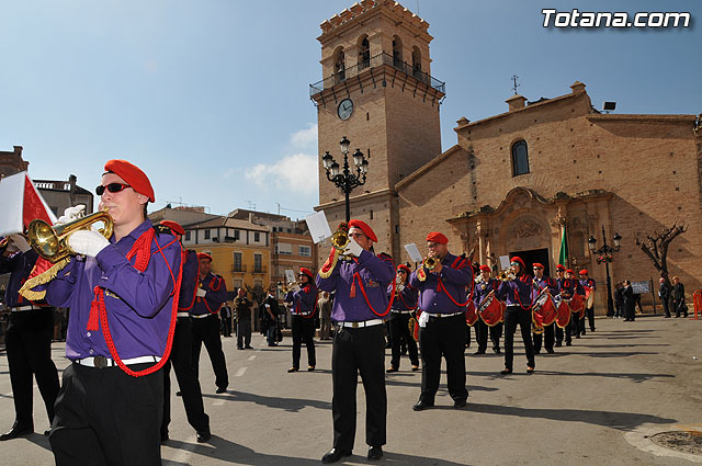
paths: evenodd
<path fill-rule="evenodd" d="M 359 373 L 366 400 L 367 458 L 380 459 L 386 442 L 383 321 L 389 312 L 385 291 L 395 280 L 395 266 L 389 257 L 373 252 L 377 237 L 367 224 L 349 221 L 347 249 L 332 249 L 317 274 L 319 289 L 336 291 L 331 319 L 337 322 L 331 354 L 333 447 L 324 455 L 322 463 L 336 463 L 351 455 Z M 336 261 L 337 252 L 343 252 L 344 260 Z"/>

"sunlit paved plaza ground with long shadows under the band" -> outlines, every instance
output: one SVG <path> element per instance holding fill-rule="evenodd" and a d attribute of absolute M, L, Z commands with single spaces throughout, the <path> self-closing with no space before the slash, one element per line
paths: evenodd
<path fill-rule="evenodd" d="M 502 357 L 466 350 L 468 405 L 454 409 L 445 375 L 437 407 L 415 412 L 420 373 L 387 375 L 385 465 L 688 465 L 701 455 L 657 445 L 661 432 L 702 431 L 702 320 L 639 317 L 635 322 L 597 319 L 597 331 L 570 348 L 526 361 L 517 343 L 514 374 L 500 376 Z M 230 385 L 216 395 L 206 352 L 201 361 L 205 410 L 213 439 L 195 441 L 180 398 L 173 397 L 163 465 L 317 465 L 331 447 L 331 343 L 317 344 L 317 370 L 287 374 L 291 339 L 268 348 L 260 334 L 253 350 L 238 351 L 223 339 Z M 489 351 L 489 350 L 488 350 Z M 63 371 L 64 344 L 53 346 Z M 389 350 L 386 356 L 389 362 Z M 306 351 L 303 349 L 303 367 Z M 173 377 L 173 391 L 177 383 Z M 105 399 L 105 404 L 110 400 Z M 361 385 L 354 455 L 341 464 L 369 464 L 365 401 Z M 35 388 L 35 429 L 47 427 Z M 14 417 L 7 359 L 0 357 L 0 429 Z M 689 435 L 697 439 L 697 435 Z M 660 436 L 659 436 L 660 437 Z M 35 433 L 0 443 L 0 465 L 50 465 L 48 440 Z M 138 465 L 134 465 L 138 466 Z"/>

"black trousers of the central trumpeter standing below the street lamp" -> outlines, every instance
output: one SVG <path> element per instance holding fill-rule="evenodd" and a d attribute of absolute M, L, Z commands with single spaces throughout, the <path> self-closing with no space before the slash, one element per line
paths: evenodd
<path fill-rule="evenodd" d="M 353 448 L 359 373 L 365 391 L 365 443 L 371 446 L 385 445 L 387 394 L 383 327 L 337 327 L 331 351 L 335 448 Z"/>

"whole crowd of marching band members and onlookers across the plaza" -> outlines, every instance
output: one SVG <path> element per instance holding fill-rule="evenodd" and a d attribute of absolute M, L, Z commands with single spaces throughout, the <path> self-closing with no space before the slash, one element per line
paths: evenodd
<path fill-rule="evenodd" d="M 222 338 L 236 332 L 237 349 L 251 349 L 256 305 L 244 289 L 231 306 L 226 304 L 226 283 L 212 272 L 213 258 L 186 250 L 179 224 L 150 223 L 146 212 L 155 194 L 139 168 L 110 160 L 95 192 L 100 209 L 113 220 L 109 238 L 93 229 L 76 230 L 68 238 L 71 255 L 55 264 L 39 257 L 23 235 L 0 243 L 0 273 L 11 273 L 5 344 L 15 407 L 15 421 L 0 441 L 34 431 L 32 378 L 36 377 L 50 424 L 45 434 L 57 465 L 159 465 L 160 444 L 169 440 L 171 366 L 188 422 L 197 442 L 207 442 L 210 417 L 199 377 L 202 345 L 215 374 L 215 393 L 225 394 L 229 379 Z M 81 209 L 72 208 L 58 223 L 80 216 Z M 446 236 L 432 231 L 427 235 L 427 258 L 412 271 L 406 264 L 395 266 L 387 254 L 375 253 L 377 237 L 366 223 L 354 219 L 340 230 L 346 245 L 333 247 L 317 273 L 302 268 L 284 298 L 292 328 L 288 373 L 301 370 L 303 344 L 307 371 L 315 371 L 317 319 L 320 340 L 332 340 L 333 439 L 322 463 L 352 453 L 359 375 L 366 399 L 367 458 L 383 457 L 385 377 L 400 371 L 403 349 L 410 371 L 421 370 L 412 409 L 434 407 L 442 359 L 453 407 L 461 409 L 468 397 L 465 348 L 471 343 L 471 326 L 476 330 L 476 356 L 486 353 L 488 337 L 492 351 L 502 353 L 503 337 L 502 375 L 513 372 L 518 327 L 528 374 L 535 371 L 542 343 L 547 353 L 554 353 L 554 346 L 564 341 L 571 345 L 573 338 L 586 334 L 586 322 L 590 331 L 596 330 L 592 299 L 587 299 L 596 284 L 587 270 L 576 277 L 573 270 L 557 265 L 557 276 L 552 279 L 544 275 L 542 264 L 534 263 L 532 275 L 521 258 L 512 257 L 509 269 L 494 276 L 487 264 L 450 252 Z M 687 316 L 684 287 L 678 277 L 671 287 L 661 281 L 659 294 L 664 303 L 671 302 L 676 317 Z M 282 309 L 275 295 L 276 289 L 270 288 L 258 312 L 270 346 L 282 338 Z M 540 320 L 541 314 L 534 318 L 534 304 L 543 304 L 543 303 L 558 308 L 551 321 Z M 634 320 L 629 281 L 616 287 L 616 316 L 622 312 L 625 320 Z M 566 314 L 561 312 L 564 304 Z M 52 307 L 70 309 L 66 334 L 70 365 L 60 384 L 50 357 Z M 665 312 L 670 317 L 668 307 Z M 104 409 L 105 399 L 111 409 Z"/>

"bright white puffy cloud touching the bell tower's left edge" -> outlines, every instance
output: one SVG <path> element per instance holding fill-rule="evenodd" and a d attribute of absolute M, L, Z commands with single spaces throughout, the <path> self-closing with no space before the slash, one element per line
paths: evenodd
<path fill-rule="evenodd" d="M 315 125 L 315 134 L 317 126 Z M 319 182 L 317 177 L 317 157 L 307 154 L 294 154 L 283 157 L 273 163 L 259 163 L 247 168 L 246 179 L 258 186 L 275 186 L 281 191 L 295 194 L 313 194 L 317 192 Z"/>

